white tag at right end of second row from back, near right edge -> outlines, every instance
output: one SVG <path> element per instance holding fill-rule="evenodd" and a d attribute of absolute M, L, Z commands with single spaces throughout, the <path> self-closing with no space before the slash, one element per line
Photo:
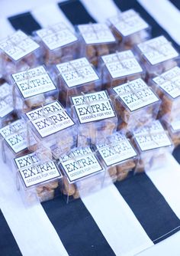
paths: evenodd
<path fill-rule="evenodd" d="M 163 35 L 137 44 L 137 47 L 152 65 L 178 57 L 178 52 Z"/>

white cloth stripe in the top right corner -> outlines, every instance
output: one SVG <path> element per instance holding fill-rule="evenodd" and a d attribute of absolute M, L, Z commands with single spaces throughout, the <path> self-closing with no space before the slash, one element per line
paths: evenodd
<path fill-rule="evenodd" d="M 173 40 L 180 44 L 180 33 L 178 32 L 180 11 L 178 11 L 178 8 L 168 0 L 138 0 L 138 2 L 169 33 Z"/>

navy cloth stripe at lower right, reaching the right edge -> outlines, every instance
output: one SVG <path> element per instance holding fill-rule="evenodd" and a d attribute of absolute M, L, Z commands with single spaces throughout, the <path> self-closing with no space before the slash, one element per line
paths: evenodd
<path fill-rule="evenodd" d="M 115 185 L 155 244 L 180 230 L 180 220 L 145 173 Z"/>

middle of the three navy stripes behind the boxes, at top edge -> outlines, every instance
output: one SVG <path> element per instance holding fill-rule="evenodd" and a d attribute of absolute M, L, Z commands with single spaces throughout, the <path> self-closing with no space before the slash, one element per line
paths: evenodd
<path fill-rule="evenodd" d="M 66 17 L 69 18 L 72 25 L 95 22 L 94 18 L 89 15 L 88 11 L 86 11 L 85 7 L 79 0 L 60 2 L 58 5 Z"/>

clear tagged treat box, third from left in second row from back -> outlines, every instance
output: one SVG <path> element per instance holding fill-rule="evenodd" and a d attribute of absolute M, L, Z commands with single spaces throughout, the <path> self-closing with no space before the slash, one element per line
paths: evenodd
<path fill-rule="evenodd" d="M 145 77 L 143 68 L 130 50 L 102 56 L 98 72 L 105 89 Z"/>

